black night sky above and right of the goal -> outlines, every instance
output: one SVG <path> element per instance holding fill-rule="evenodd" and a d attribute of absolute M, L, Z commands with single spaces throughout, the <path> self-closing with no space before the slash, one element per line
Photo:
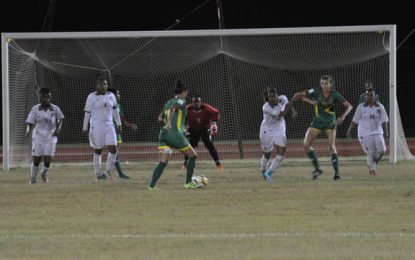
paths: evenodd
<path fill-rule="evenodd" d="M 18 0 L 7 5 L 7 8 L 1 8 L 1 32 L 219 28 L 217 0 Z M 412 104 L 415 78 L 411 75 L 415 72 L 415 33 L 411 35 L 415 29 L 415 18 L 409 3 L 375 0 L 223 0 L 222 7 L 222 28 L 226 29 L 396 24 L 399 109 L 406 136 L 415 136 Z"/>

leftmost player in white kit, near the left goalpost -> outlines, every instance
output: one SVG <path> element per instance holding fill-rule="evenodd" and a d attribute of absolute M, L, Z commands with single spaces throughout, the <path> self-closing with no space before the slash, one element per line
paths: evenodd
<path fill-rule="evenodd" d="M 64 118 L 61 109 L 50 103 L 50 89 L 39 91 L 40 104 L 34 105 L 27 119 L 26 135 L 32 133 L 32 156 L 30 184 L 36 183 L 39 165 L 43 157 L 42 182 L 48 182 L 48 170 L 55 155 L 58 135 Z"/>

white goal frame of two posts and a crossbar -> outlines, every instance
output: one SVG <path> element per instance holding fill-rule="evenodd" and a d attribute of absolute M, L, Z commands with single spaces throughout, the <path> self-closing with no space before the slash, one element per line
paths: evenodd
<path fill-rule="evenodd" d="M 390 117 L 390 163 L 398 157 L 398 108 L 396 97 L 396 25 L 302 27 L 270 29 L 226 29 L 187 31 L 137 31 L 137 32 L 51 32 L 51 33 L 2 33 L 2 100 L 3 100 L 3 170 L 10 168 L 10 111 L 9 111 L 9 66 L 8 41 L 10 39 L 65 39 L 65 38 L 120 38 L 120 37 L 180 37 L 180 36 L 229 36 L 263 34 L 312 34 L 347 32 L 389 32 L 389 117 Z"/>

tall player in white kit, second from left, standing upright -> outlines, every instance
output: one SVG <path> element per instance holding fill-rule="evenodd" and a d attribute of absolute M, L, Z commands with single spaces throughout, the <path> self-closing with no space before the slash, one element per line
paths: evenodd
<path fill-rule="evenodd" d="M 107 91 L 108 83 L 100 78 L 96 84 L 96 91 L 89 94 L 85 105 L 83 133 L 88 134 L 89 143 L 94 148 L 94 168 L 96 179 L 108 179 L 117 157 L 117 131 L 121 132 L 121 118 L 117 110 L 117 99 Z M 101 172 L 102 149 L 108 146 L 106 171 Z"/>

